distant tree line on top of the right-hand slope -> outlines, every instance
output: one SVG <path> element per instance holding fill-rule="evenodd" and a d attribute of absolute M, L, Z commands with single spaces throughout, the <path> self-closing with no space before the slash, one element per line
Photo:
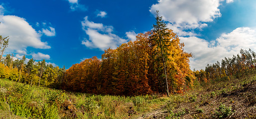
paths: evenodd
<path fill-rule="evenodd" d="M 229 80 L 232 76 L 241 78 L 248 71 L 255 71 L 256 53 L 251 49 L 240 50 L 240 54 L 233 55 L 232 58 L 224 58 L 221 62 L 217 61 L 213 64 L 207 64 L 205 69 L 194 70 L 195 76 L 201 82 L 209 80 Z"/>

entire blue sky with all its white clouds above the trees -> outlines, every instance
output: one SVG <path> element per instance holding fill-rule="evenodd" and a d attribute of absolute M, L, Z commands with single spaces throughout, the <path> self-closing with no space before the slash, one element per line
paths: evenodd
<path fill-rule="evenodd" d="M 151 30 L 156 10 L 193 54 L 191 69 L 256 51 L 255 0 L 0 0 L 0 35 L 5 54 L 69 68 Z"/>

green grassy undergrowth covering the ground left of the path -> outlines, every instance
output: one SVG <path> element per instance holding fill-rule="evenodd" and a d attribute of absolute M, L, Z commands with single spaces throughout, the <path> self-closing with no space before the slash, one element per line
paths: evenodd
<path fill-rule="evenodd" d="M 0 79 L 1 119 L 129 119 L 166 101 L 157 95 L 92 95 Z"/>

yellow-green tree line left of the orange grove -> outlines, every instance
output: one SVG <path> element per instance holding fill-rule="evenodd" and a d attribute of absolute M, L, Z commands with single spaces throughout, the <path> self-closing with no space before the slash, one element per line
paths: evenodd
<path fill-rule="evenodd" d="M 54 67 L 52 64 L 46 64 L 45 60 L 30 59 L 27 63 L 25 60 L 25 55 L 20 60 L 13 60 L 13 55 L 6 55 L 0 62 L 0 78 L 30 85 L 60 88 L 65 66 L 64 68 Z"/>

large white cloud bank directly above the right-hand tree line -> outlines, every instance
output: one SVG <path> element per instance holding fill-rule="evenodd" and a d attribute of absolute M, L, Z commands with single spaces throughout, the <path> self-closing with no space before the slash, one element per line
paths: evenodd
<path fill-rule="evenodd" d="M 240 27 L 231 33 L 224 33 L 218 39 L 208 42 L 197 37 L 180 37 L 184 50 L 193 54 L 191 69 L 204 69 L 209 64 L 240 53 L 240 49 L 256 51 L 256 29 Z M 214 43 L 214 44 L 212 44 Z"/>

